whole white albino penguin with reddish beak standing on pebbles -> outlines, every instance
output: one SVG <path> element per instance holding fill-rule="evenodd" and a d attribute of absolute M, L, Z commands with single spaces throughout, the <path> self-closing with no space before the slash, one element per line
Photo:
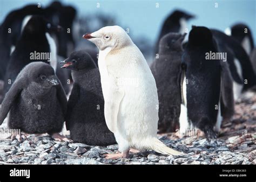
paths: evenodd
<path fill-rule="evenodd" d="M 107 127 L 122 153 L 107 158 L 127 158 L 130 149 L 184 155 L 157 138 L 158 95 L 156 81 L 139 48 L 120 26 L 106 26 L 84 34 L 99 48 L 99 72 L 105 100 Z"/>

